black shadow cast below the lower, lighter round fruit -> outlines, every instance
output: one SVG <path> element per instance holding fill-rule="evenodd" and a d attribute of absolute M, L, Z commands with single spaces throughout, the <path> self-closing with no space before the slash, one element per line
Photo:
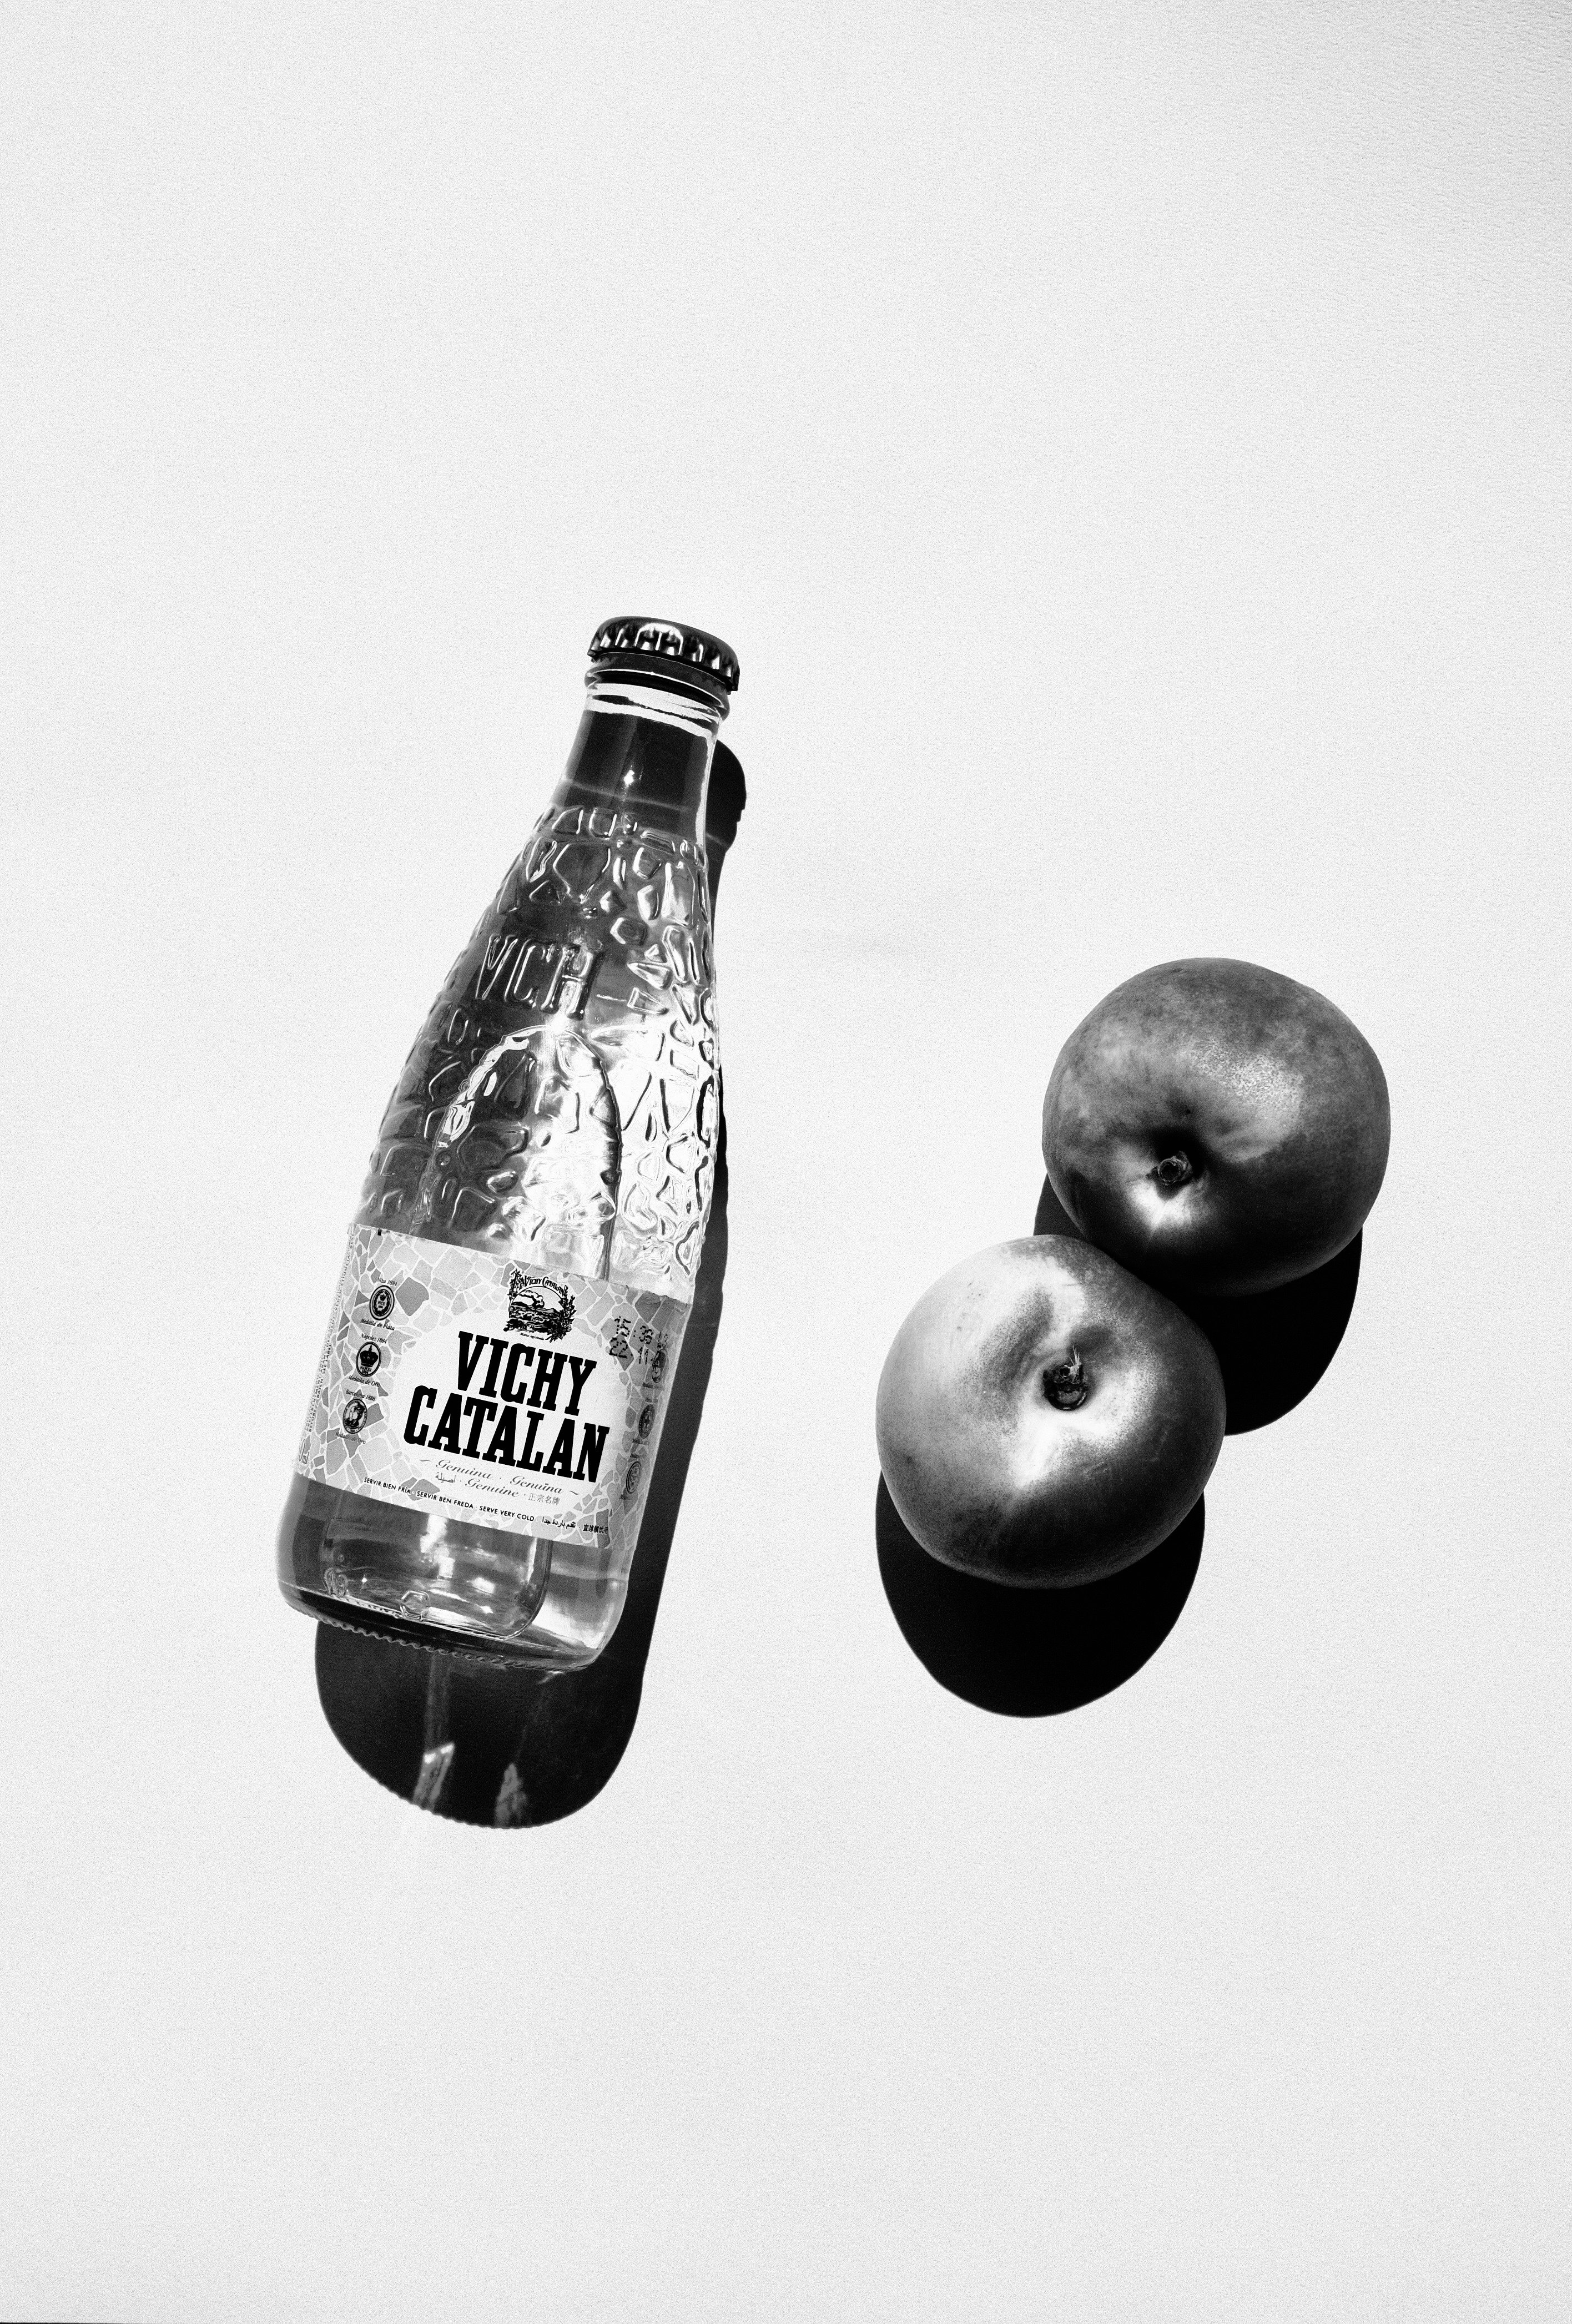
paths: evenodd
<path fill-rule="evenodd" d="M 1123 1573 L 1074 1590 L 1012 1590 L 956 1573 L 912 1538 L 879 1478 L 879 1580 L 930 1678 L 979 1710 L 1039 1720 L 1123 1687 L 1184 1613 L 1207 1504 Z"/>

